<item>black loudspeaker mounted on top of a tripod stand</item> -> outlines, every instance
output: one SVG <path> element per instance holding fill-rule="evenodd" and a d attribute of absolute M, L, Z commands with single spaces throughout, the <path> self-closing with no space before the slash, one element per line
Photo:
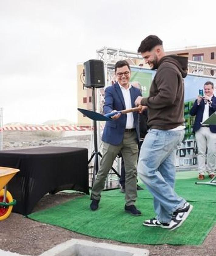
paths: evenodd
<path fill-rule="evenodd" d="M 85 87 L 101 88 L 105 86 L 104 62 L 101 60 L 89 60 L 84 62 Z"/>

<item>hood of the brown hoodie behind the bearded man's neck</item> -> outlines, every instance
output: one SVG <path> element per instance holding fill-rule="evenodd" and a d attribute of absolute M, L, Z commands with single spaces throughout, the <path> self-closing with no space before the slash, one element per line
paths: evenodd
<path fill-rule="evenodd" d="M 180 70 L 183 78 L 185 78 L 187 76 L 187 71 L 188 71 L 188 68 L 187 68 L 188 58 L 187 57 L 179 56 L 176 54 L 166 55 L 159 60 L 157 68 L 159 68 L 159 65 L 161 65 L 163 62 L 173 63 Z"/>

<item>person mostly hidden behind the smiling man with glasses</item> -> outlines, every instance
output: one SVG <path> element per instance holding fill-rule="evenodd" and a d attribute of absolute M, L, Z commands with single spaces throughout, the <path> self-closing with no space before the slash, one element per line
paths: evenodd
<path fill-rule="evenodd" d="M 133 82 L 131 82 L 131 85 L 138 88 L 142 94 L 142 86 L 139 82 L 133 81 Z M 143 140 L 146 136 L 147 130 L 148 130 L 148 126 L 147 126 L 148 113 L 147 113 L 147 111 L 148 110 L 146 109 L 142 112 L 142 114 L 139 115 L 139 135 L 140 135 L 139 149 L 142 146 L 142 142 L 143 142 Z M 125 164 L 124 164 L 123 157 L 122 157 L 122 163 L 121 163 L 121 177 L 120 177 L 119 183 L 121 185 L 121 192 L 125 193 Z M 138 184 L 137 184 L 136 188 L 137 188 L 137 190 L 143 190 L 143 188 L 140 187 Z"/>

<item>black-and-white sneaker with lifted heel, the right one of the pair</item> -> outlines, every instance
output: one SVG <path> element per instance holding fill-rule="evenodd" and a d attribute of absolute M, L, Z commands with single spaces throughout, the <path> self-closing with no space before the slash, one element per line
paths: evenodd
<path fill-rule="evenodd" d="M 193 209 L 193 205 L 190 205 L 187 202 L 184 204 L 182 208 L 177 209 L 173 213 L 173 217 L 170 222 L 169 229 L 172 231 L 180 227 L 181 224 L 187 219 L 192 209 Z"/>

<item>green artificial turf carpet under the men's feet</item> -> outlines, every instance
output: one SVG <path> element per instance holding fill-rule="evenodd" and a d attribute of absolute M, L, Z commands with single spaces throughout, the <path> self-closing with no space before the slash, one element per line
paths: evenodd
<path fill-rule="evenodd" d="M 84 195 L 28 217 L 88 236 L 125 243 L 198 245 L 216 223 L 216 187 L 195 185 L 196 178 L 189 173 L 189 179 L 181 175 L 177 175 L 176 191 L 194 208 L 182 226 L 173 231 L 142 225 L 143 220 L 154 217 L 153 199 L 146 189 L 138 191 L 136 202 L 142 216 L 126 213 L 124 194 L 112 190 L 102 193 L 99 209 L 95 212 L 89 208 L 89 196 Z"/>

